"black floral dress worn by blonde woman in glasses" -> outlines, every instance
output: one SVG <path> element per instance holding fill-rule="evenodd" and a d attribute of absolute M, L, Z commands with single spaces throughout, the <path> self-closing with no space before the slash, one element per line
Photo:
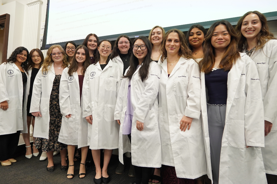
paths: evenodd
<path fill-rule="evenodd" d="M 59 87 L 62 75 L 56 75 L 49 101 L 49 139 L 36 138 L 36 148 L 43 152 L 60 151 L 67 148 L 66 144 L 58 142 L 60 129 L 62 125 L 62 114 L 59 105 Z"/>

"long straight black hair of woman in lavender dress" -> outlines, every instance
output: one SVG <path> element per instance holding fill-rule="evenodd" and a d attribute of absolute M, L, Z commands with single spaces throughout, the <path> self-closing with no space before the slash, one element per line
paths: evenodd
<path fill-rule="evenodd" d="M 133 43 L 135 43 L 139 39 L 143 40 L 143 42 L 147 47 L 147 55 L 144 58 L 143 62 L 141 63 L 141 67 L 139 69 L 139 75 L 140 75 L 141 81 L 143 82 L 148 77 L 149 65 L 152 61 L 151 59 L 152 45 L 150 40 L 145 36 L 139 36 L 135 38 Z M 139 59 L 136 56 L 134 56 L 134 53 L 132 52 L 132 55 L 130 57 L 130 68 L 127 71 L 126 75 L 124 75 L 123 77 L 128 78 L 129 80 L 132 79 L 134 72 L 137 70 L 138 65 L 139 65 Z"/>

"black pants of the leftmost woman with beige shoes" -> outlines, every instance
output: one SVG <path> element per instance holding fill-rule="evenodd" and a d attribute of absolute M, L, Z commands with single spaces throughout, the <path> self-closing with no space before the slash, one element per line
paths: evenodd
<path fill-rule="evenodd" d="M 0 160 L 12 159 L 18 146 L 20 130 L 16 133 L 0 135 Z"/>

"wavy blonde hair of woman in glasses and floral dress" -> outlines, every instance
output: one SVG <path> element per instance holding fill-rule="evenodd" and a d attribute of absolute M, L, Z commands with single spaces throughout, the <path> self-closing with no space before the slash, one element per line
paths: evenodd
<path fill-rule="evenodd" d="M 47 56 L 46 56 L 46 58 L 44 59 L 44 62 L 43 62 L 43 64 L 42 64 L 42 66 L 41 66 L 41 67 L 42 67 L 42 72 L 48 71 L 49 66 L 51 66 L 52 63 L 54 62 L 54 61 L 52 60 L 52 56 L 51 56 L 51 53 L 52 53 L 53 48 L 59 48 L 60 51 L 62 52 L 62 56 L 63 56 L 63 59 L 62 59 L 62 67 L 63 67 L 63 68 L 66 68 L 66 67 L 68 67 L 68 65 L 69 65 L 69 63 L 68 63 L 68 61 L 67 61 L 67 57 L 66 57 L 66 52 L 63 50 L 62 46 L 60 46 L 60 45 L 52 45 L 52 46 L 48 49 L 48 51 L 47 51 Z"/>

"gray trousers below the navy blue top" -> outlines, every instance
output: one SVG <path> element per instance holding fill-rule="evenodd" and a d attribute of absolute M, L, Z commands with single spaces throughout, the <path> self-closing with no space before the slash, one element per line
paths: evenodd
<path fill-rule="evenodd" d="M 214 184 L 218 184 L 221 141 L 225 126 L 226 105 L 207 105 Z"/>

